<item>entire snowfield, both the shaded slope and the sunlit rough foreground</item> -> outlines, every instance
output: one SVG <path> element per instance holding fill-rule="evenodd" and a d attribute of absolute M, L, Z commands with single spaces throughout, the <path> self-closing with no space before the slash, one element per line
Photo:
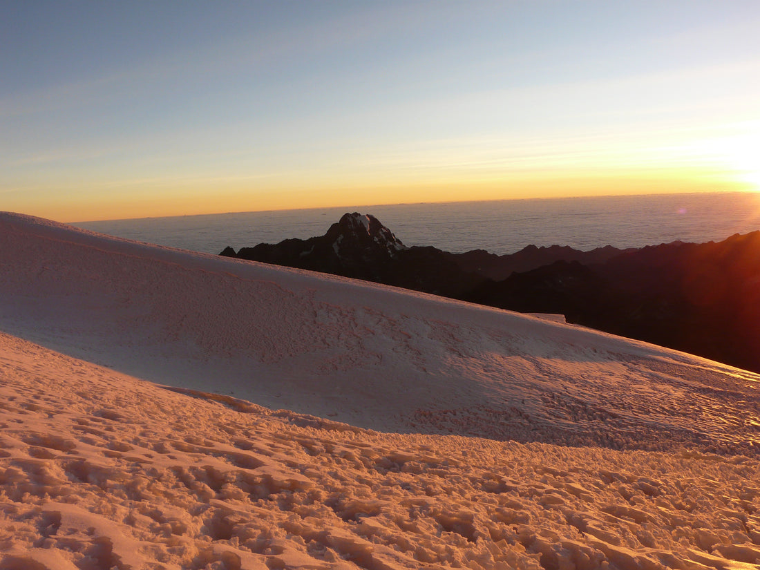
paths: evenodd
<path fill-rule="evenodd" d="M 0 239 L 3 570 L 760 567 L 757 375 L 17 214 Z"/>

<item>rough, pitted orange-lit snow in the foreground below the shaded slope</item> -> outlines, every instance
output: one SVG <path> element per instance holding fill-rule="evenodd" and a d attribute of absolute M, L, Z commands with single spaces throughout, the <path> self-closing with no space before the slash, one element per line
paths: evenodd
<path fill-rule="evenodd" d="M 0 334 L 3 570 L 760 568 L 757 458 L 399 435 Z"/>

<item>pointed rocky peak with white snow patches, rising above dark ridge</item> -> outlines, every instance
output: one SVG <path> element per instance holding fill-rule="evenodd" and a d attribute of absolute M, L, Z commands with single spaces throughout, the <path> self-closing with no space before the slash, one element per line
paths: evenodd
<path fill-rule="evenodd" d="M 330 226 L 325 234 L 335 253 L 340 256 L 345 249 L 381 249 L 393 257 L 397 252 L 407 249 L 407 246 L 394 236 L 391 230 L 383 226 L 371 214 L 344 214 L 337 223 Z"/>

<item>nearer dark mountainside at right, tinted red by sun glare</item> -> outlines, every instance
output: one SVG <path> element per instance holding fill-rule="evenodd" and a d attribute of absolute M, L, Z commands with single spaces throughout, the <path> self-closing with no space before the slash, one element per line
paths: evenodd
<path fill-rule="evenodd" d="M 467 300 L 568 322 L 760 372 L 760 232 L 654 245 L 603 264 L 558 262 L 483 283 Z"/>

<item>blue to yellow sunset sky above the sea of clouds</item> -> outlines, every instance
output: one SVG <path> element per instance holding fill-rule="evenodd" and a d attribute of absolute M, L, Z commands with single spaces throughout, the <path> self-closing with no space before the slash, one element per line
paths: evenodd
<path fill-rule="evenodd" d="M 0 210 L 760 190 L 760 2 L 0 0 Z"/>

